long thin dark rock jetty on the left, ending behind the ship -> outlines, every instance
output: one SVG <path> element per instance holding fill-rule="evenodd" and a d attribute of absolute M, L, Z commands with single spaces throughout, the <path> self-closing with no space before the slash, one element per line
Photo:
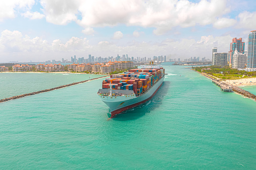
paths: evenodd
<path fill-rule="evenodd" d="M 34 95 L 34 94 L 39 94 L 39 93 L 47 92 L 47 91 L 57 90 L 57 89 L 61 89 L 61 88 L 68 87 L 68 86 L 73 86 L 73 85 L 76 85 L 76 84 L 80 84 L 80 83 L 88 82 L 90 80 L 96 80 L 96 79 L 100 79 L 100 78 L 108 77 L 108 76 L 102 76 L 102 77 L 93 78 L 93 79 L 84 80 L 84 81 L 79 81 L 79 82 L 75 82 L 75 83 L 71 83 L 71 84 L 66 84 L 66 85 L 62 85 L 62 86 L 58 86 L 58 87 L 54 87 L 54 88 L 50 88 L 50 89 L 45 89 L 45 90 L 40 90 L 40 91 L 36 91 L 36 92 L 32 92 L 32 93 L 22 94 L 22 95 L 19 95 L 19 96 L 9 97 L 9 98 L 5 98 L 5 99 L 1 99 L 0 103 L 8 101 L 8 100 L 19 99 L 19 98 L 26 97 L 26 96 L 31 96 L 31 95 Z"/>

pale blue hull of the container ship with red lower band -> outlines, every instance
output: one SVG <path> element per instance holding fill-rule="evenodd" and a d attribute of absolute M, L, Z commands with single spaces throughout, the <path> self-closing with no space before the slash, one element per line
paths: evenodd
<path fill-rule="evenodd" d="M 117 99 L 108 101 L 103 100 L 103 102 L 106 103 L 110 108 L 111 118 L 113 118 L 116 114 L 120 114 L 127 109 L 133 108 L 150 100 L 161 87 L 163 79 L 164 77 L 162 77 L 156 84 L 154 84 L 154 86 L 152 86 L 146 93 L 141 96 L 131 96 L 132 98 L 127 98 L 127 100 L 123 100 L 121 97 L 117 97 Z"/>

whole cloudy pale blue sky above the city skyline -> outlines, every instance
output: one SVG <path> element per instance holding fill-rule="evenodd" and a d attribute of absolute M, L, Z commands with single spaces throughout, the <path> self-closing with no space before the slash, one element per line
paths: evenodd
<path fill-rule="evenodd" d="M 256 30 L 256 0 L 0 1 L 0 62 L 206 57 Z"/>

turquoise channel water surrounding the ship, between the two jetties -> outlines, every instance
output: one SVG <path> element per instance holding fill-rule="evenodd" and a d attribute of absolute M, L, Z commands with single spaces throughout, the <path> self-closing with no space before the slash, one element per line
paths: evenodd
<path fill-rule="evenodd" d="M 163 67 L 156 95 L 110 120 L 103 79 L 0 103 L 0 168 L 254 169 L 256 103 Z"/>

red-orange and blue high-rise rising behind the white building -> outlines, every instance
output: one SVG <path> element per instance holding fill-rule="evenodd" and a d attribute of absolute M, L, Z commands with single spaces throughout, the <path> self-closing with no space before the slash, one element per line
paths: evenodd
<path fill-rule="evenodd" d="M 229 66 L 232 66 L 233 63 L 233 55 L 235 53 L 235 50 L 238 51 L 238 53 L 244 54 L 244 42 L 242 42 L 242 38 L 233 38 L 232 43 L 230 43 L 230 50 L 228 52 L 228 62 Z"/>

